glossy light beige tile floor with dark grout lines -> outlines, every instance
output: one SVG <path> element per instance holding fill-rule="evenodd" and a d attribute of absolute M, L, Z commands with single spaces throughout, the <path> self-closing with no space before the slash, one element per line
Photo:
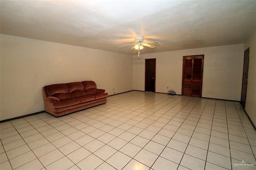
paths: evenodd
<path fill-rule="evenodd" d="M 232 101 L 131 91 L 0 128 L 1 170 L 256 169 L 256 131 Z"/>

